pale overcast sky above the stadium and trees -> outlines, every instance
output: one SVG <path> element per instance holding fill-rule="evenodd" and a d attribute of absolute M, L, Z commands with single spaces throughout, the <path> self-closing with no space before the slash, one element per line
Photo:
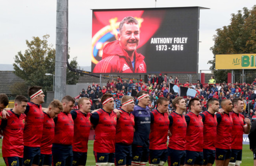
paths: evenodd
<path fill-rule="evenodd" d="M 49 34 L 55 48 L 56 0 L 10 0 L 0 5 L 0 64 L 14 63 L 17 52 L 27 49 L 26 40 Z M 77 56 L 80 66 L 91 65 L 91 9 L 124 9 L 152 7 L 200 6 L 199 70 L 208 70 L 213 59 L 210 47 L 217 28 L 230 24 L 232 13 L 243 7 L 251 9 L 252 0 L 69 0 L 69 47 L 71 58 Z M 199 71 L 198 71 L 199 72 Z"/>

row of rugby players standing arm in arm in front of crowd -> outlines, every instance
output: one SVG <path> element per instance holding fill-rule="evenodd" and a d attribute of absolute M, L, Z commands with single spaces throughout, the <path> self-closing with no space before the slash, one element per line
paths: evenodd
<path fill-rule="evenodd" d="M 124 96 L 122 107 L 114 110 L 113 95 L 102 96 L 102 109 L 90 113 L 88 98 L 64 96 L 43 108 L 41 87 L 30 87 L 28 102 L 15 98 L 15 107 L 1 112 L 2 152 L 7 166 L 84 166 L 91 127 L 95 130 L 93 153 L 97 166 L 239 166 L 243 133 L 249 133 L 250 120 L 242 112 L 240 99 L 208 100 L 208 111 L 199 114 L 198 98 L 189 101 L 190 112 L 183 115 L 186 101 L 173 100 L 174 113 L 168 116 L 168 100 L 160 97 L 157 109 L 150 112 L 148 92 Z M 43 111 L 42 111 L 43 110 Z M 169 144 L 167 147 L 167 135 Z M 24 148 L 23 148 L 24 147 Z"/>

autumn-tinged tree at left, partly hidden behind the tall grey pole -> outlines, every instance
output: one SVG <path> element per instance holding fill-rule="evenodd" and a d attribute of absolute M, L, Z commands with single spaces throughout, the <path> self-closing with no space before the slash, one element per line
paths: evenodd
<path fill-rule="evenodd" d="M 43 39 L 32 37 L 32 41 L 26 40 L 28 49 L 22 54 L 21 51 L 15 55 L 14 73 L 24 79 L 25 83 L 16 83 L 10 87 L 13 95 L 27 91 L 33 85 L 43 87 L 43 91 L 53 89 L 53 76 L 45 76 L 46 73 L 54 74 L 55 71 L 55 49 L 52 44 L 48 44 L 47 39 L 50 35 L 44 35 Z M 69 58 L 69 55 L 68 55 Z M 76 57 L 70 61 L 72 68 L 79 68 Z M 79 74 L 75 74 L 67 68 L 67 84 L 76 84 Z M 20 89 L 26 90 L 21 91 Z M 23 94 L 26 95 L 27 94 Z"/>

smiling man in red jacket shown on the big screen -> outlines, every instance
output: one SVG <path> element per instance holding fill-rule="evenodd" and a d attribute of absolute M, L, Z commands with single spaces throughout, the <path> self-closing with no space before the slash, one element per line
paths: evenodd
<path fill-rule="evenodd" d="M 103 48 L 102 60 L 93 73 L 146 73 L 144 56 L 137 53 L 139 23 L 134 17 L 125 17 L 119 25 L 118 40 Z"/>

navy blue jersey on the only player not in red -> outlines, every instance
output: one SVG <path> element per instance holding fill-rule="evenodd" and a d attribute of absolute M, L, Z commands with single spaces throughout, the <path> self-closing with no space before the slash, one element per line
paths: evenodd
<path fill-rule="evenodd" d="M 150 110 L 148 106 L 146 108 L 139 105 L 134 106 L 134 122 L 135 132 L 133 144 L 149 147 L 149 132 L 150 132 Z"/>

